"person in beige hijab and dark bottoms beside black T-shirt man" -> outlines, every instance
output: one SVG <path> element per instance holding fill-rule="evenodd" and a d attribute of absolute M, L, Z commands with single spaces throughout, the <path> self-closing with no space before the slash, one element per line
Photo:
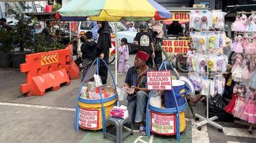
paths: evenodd
<path fill-rule="evenodd" d="M 153 39 L 153 44 L 155 47 L 155 57 L 153 58 L 155 62 L 155 66 L 158 69 L 158 66 L 163 61 L 162 58 L 162 49 L 161 46 L 163 44 L 163 24 L 161 24 L 160 21 L 155 21 L 155 18 L 153 18 L 150 21 L 149 26 L 152 28 L 152 39 Z"/>

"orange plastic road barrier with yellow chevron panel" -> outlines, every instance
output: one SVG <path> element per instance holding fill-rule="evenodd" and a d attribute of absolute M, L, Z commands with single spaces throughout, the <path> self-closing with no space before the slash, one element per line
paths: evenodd
<path fill-rule="evenodd" d="M 26 73 L 26 83 L 20 91 L 27 96 L 42 96 L 45 89 L 57 90 L 60 84 L 70 84 L 70 79 L 78 79 L 79 69 L 73 65 L 72 46 L 36 54 L 27 54 L 26 63 L 20 64 L 20 71 Z M 69 78 L 70 77 L 70 78 Z"/>

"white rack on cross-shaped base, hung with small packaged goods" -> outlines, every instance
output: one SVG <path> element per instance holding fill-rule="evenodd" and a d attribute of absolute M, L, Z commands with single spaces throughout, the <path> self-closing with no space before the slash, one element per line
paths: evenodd
<path fill-rule="evenodd" d="M 203 119 L 202 122 L 196 124 L 199 130 L 202 125 L 209 123 L 214 124 L 214 127 L 222 132 L 222 127 L 213 122 L 218 119 L 215 115 L 219 114 L 214 114 L 214 117 L 209 118 L 209 99 L 211 100 L 217 95 L 219 96 L 217 99 L 221 99 L 226 82 L 222 74 L 227 72 L 228 58 L 223 54 L 214 54 L 214 51 L 219 51 L 226 46 L 226 34 L 221 31 L 224 30 L 224 15 L 224 12 L 217 10 L 211 12 L 191 11 L 190 15 L 191 45 L 195 50 L 192 54 L 187 55 L 188 70 L 190 71 L 188 78 L 193 83 L 195 90 L 206 96 L 207 103 L 206 118 L 195 114 L 199 119 Z M 223 106 L 216 108 L 219 107 Z"/>

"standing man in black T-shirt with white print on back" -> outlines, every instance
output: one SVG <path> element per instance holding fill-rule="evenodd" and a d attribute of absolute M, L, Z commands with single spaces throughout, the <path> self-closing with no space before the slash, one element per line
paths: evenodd
<path fill-rule="evenodd" d="M 136 34 L 134 44 L 139 47 L 140 51 L 145 51 L 150 55 L 150 59 L 147 60 L 147 66 L 152 68 L 152 58 L 155 58 L 155 49 L 152 35 L 147 31 L 146 25 L 140 25 L 140 32 Z"/>

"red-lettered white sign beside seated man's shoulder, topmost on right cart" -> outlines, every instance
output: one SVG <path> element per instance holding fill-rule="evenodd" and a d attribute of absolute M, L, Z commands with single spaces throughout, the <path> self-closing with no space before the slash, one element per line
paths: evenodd
<path fill-rule="evenodd" d="M 147 89 L 170 90 L 172 86 L 172 71 L 147 71 Z"/>

